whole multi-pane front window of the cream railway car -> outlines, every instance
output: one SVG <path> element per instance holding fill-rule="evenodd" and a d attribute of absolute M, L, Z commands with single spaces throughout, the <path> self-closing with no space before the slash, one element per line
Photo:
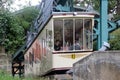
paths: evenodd
<path fill-rule="evenodd" d="M 92 19 L 54 19 L 54 50 L 91 50 Z"/>

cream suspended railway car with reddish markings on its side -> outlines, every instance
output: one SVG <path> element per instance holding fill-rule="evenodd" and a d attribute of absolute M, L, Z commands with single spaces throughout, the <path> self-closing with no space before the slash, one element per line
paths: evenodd
<path fill-rule="evenodd" d="M 25 75 L 64 74 L 92 53 L 93 19 L 92 13 L 52 13 L 25 52 Z"/>

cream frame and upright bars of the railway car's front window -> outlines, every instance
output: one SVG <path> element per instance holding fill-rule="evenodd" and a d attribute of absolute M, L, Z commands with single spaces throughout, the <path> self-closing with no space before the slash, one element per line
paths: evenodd
<path fill-rule="evenodd" d="M 77 18 L 76 18 L 76 17 L 75 17 L 75 18 L 73 18 L 73 17 L 70 17 L 70 18 L 65 18 L 65 17 L 63 17 L 63 18 L 54 18 L 54 19 L 53 19 L 53 33 L 54 33 L 54 34 L 53 34 L 53 37 L 55 36 L 55 32 L 54 32 L 54 31 L 55 31 L 55 30 L 54 30 L 54 29 L 55 29 L 55 28 L 54 28 L 54 27 L 55 27 L 55 26 L 54 26 L 55 24 L 54 24 L 54 21 L 56 21 L 56 20 L 61 20 L 61 21 L 62 21 L 62 26 L 63 26 L 63 27 L 62 27 L 62 29 L 63 29 L 63 31 L 62 31 L 63 33 L 62 33 L 62 34 L 63 34 L 63 44 L 64 44 L 64 43 L 65 43 L 65 39 L 64 39 L 64 38 L 65 38 L 65 34 L 64 34 L 64 30 L 65 30 L 65 29 L 64 29 L 64 27 L 65 27 L 64 23 L 65 23 L 65 22 L 64 22 L 64 21 L 65 21 L 65 20 L 71 20 L 71 19 L 73 20 L 73 42 L 75 42 L 76 20 L 79 20 L 79 19 L 82 20 L 82 26 L 83 26 L 83 32 L 82 32 L 82 35 L 83 35 L 83 37 L 82 37 L 83 40 L 82 40 L 82 41 L 83 41 L 83 42 L 82 42 L 82 43 L 83 43 L 83 48 L 80 49 L 80 50 L 75 50 L 75 48 L 74 48 L 73 50 L 68 50 L 68 51 L 91 51 L 91 50 L 93 50 L 93 41 L 92 41 L 92 43 L 91 43 L 91 44 L 92 44 L 92 48 L 90 48 L 90 49 L 85 49 L 85 40 L 84 40 L 84 39 L 85 39 L 85 38 L 84 38 L 84 37 L 85 37 L 85 34 L 84 34 L 84 33 L 85 33 L 85 23 L 84 23 L 84 22 L 85 22 L 86 19 L 90 19 L 90 20 L 91 20 L 91 25 L 89 25 L 89 26 L 91 27 L 92 40 L 93 40 L 93 17 L 77 17 Z M 55 41 L 55 39 L 54 39 L 53 41 Z M 53 43 L 54 43 L 54 42 L 53 42 Z M 53 47 L 54 47 L 54 45 L 53 45 Z M 64 45 L 63 45 L 63 47 L 64 47 Z M 54 50 L 54 48 L 53 48 L 53 50 Z M 55 51 L 55 50 L 54 50 L 54 51 Z M 60 50 L 60 51 L 61 51 L 61 50 Z M 62 50 L 62 51 L 66 51 L 66 50 Z"/>

